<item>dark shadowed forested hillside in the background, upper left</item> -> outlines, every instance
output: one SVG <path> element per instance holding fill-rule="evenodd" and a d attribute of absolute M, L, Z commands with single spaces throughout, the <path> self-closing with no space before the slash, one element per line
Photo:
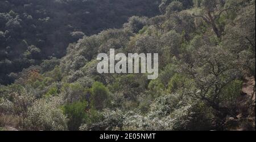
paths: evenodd
<path fill-rule="evenodd" d="M 121 28 L 130 16 L 155 16 L 158 0 L 0 1 L 0 84 L 14 80 L 42 59 L 60 58 L 69 43 L 108 28 Z"/>

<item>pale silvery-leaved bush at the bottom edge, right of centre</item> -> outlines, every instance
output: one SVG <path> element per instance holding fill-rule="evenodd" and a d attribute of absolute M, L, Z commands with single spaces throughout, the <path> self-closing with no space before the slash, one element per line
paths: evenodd
<path fill-rule="evenodd" d="M 209 130 L 208 107 L 187 103 L 179 94 L 163 94 L 151 102 L 146 115 L 135 111 L 126 113 L 122 130 Z"/>

